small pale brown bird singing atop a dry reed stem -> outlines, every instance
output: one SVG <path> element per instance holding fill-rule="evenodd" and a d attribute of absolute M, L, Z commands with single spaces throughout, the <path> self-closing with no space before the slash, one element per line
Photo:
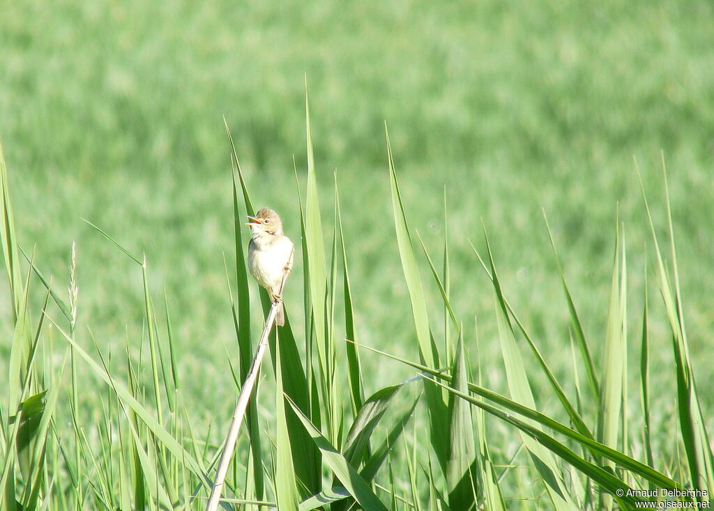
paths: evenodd
<path fill-rule="evenodd" d="M 283 222 L 278 214 L 268 207 L 258 210 L 246 225 L 251 228 L 248 244 L 248 269 L 261 287 L 268 291 L 273 304 L 278 304 L 275 322 L 285 324 L 285 307 L 281 296 L 283 277 L 293 267 L 294 246 L 283 233 Z"/>

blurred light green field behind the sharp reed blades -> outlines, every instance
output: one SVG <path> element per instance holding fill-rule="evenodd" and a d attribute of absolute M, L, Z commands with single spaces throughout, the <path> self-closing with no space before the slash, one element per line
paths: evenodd
<path fill-rule="evenodd" d="M 253 202 L 278 210 L 298 240 L 306 76 L 326 244 L 336 170 L 359 341 L 418 358 L 384 121 L 410 227 L 439 262 L 446 189 L 458 313 L 488 317 L 482 342 L 493 344 L 492 291 L 468 244 L 483 248 L 483 219 L 506 296 L 561 368 L 568 312 L 541 207 L 596 356 L 619 208 L 636 345 L 651 238 L 633 156 L 665 234 L 663 150 L 691 349 L 699 381 L 711 381 L 700 355 L 714 327 L 713 11 L 710 1 L 4 2 L 0 136 L 19 240 L 61 290 L 76 239 L 79 322 L 116 350 L 141 336 L 141 273 L 81 218 L 145 253 L 154 299 L 169 297 L 181 365 L 227 370 L 223 346 L 235 352 L 236 341 L 222 116 Z M 301 314 L 301 292 L 293 276 L 288 314 Z M 662 314 L 653 329 L 656 364 L 671 357 Z M 393 364 L 366 358 L 384 376 L 378 386 L 395 378 Z M 196 382 L 194 397 L 213 391 Z"/>

